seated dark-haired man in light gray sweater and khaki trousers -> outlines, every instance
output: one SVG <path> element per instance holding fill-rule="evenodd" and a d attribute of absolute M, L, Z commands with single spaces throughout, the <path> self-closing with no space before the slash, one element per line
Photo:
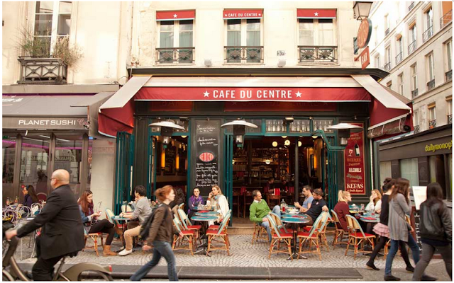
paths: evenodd
<path fill-rule="evenodd" d="M 147 219 L 148 215 L 151 214 L 151 207 L 150 203 L 148 202 L 148 198 L 146 197 L 147 191 L 143 185 L 138 185 L 134 188 L 134 195 L 137 198 L 137 204 L 135 204 L 135 209 L 133 213 L 121 213 L 120 216 L 128 219 L 139 219 L 139 226 L 128 229 L 123 233 L 123 237 L 125 238 L 126 248 L 122 250 L 118 255 L 129 255 L 133 253 L 133 237 L 139 236 L 140 234 L 140 227 L 143 224 L 143 221 Z"/>

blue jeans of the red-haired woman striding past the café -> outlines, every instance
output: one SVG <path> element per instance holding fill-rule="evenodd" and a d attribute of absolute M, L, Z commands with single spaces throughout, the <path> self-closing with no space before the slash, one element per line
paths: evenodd
<path fill-rule="evenodd" d="M 153 241 L 153 258 L 145 263 L 140 270 L 131 276 L 131 281 L 140 281 L 147 273 L 157 265 L 163 256 L 167 261 L 167 274 L 169 275 L 169 281 L 178 281 L 177 265 L 175 261 L 175 255 L 172 252 L 172 246 L 169 242 L 164 241 Z"/>

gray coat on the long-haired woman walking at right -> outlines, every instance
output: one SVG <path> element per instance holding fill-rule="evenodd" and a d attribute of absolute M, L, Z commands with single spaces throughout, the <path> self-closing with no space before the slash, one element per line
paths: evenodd
<path fill-rule="evenodd" d="M 389 202 L 389 238 L 392 240 L 409 241 L 409 228 L 405 214 L 410 214 L 411 208 L 406 204 L 404 195 L 397 194 Z"/>

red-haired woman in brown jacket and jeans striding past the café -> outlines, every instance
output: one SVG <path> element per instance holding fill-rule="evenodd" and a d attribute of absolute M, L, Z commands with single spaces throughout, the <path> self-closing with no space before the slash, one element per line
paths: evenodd
<path fill-rule="evenodd" d="M 155 215 L 147 238 L 147 243 L 153 243 L 153 258 L 131 276 L 131 281 L 140 281 L 159 263 L 161 257 L 167 261 L 169 281 L 178 281 L 177 262 L 172 252 L 172 238 L 174 234 L 178 233 L 172 225 L 172 211 L 169 207 L 170 202 L 175 200 L 175 192 L 171 185 L 166 185 L 157 189 L 155 196 L 160 205 L 153 211 Z M 183 234 L 180 232 L 179 236 L 182 237 Z M 148 245 L 143 246 L 143 250 L 150 250 L 150 248 Z"/>

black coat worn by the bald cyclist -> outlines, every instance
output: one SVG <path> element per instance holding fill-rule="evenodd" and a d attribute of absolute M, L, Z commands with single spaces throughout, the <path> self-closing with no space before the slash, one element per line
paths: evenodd
<path fill-rule="evenodd" d="M 79 205 L 69 185 L 53 190 L 35 219 L 18 229 L 19 238 L 43 227 L 40 257 L 44 260 L 74 253 L 84 248 L 84 228 Z"/>

